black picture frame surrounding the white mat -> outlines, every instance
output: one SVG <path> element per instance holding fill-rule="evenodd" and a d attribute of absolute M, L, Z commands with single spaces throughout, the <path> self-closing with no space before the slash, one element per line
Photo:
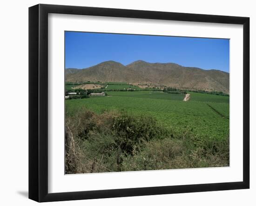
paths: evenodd
<path fill-rule="evenodd" d="M 243 181 L 48 193 L 48 13 L 243 25 Z M 242 125 L 241 125 L 242 129 Z M 38 202 L 249 188 L 249 18 L 39 4 L 29 8 L 29 199 Z"/>

